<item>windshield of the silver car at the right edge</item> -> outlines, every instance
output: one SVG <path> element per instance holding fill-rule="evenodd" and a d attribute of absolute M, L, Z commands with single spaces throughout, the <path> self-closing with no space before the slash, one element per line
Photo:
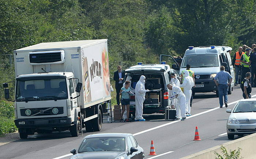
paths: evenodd
<path fill-rule="evenodd" d="M 254 101 L 245 101 L 239 102 L 233 113 L 242 113 L 242 112 L 256 112 L 256 102 Z"/>

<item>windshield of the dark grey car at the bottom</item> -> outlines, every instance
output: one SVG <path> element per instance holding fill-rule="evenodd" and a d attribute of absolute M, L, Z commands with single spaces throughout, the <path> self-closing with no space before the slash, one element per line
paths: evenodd
<path fill-rule="evenodd" d="M 78 152 L 125 151 L 124 137 L 98 137 L 84 139 Z"/>

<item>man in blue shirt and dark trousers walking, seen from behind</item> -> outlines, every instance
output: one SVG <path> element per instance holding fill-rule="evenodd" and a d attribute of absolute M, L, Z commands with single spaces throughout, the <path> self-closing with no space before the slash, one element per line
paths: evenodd
<path fill-rule="evenodd" d="M 223 105 L 223 96 L 224 96 L 224 103 L 225 107 L 227 107 L 227 90 L 232 82 L 232 76 L 229 72 L 225 71 L 225 67 L 221 66 L 221 71 L 217 73 L 214 77 L 214 82 L 216 83 L 219 91 L 219 105 L 222 108 Z M 217 79 L 219 82 L 217 83 Z M 227 83 L 229 80 L 229 83 Z"/>

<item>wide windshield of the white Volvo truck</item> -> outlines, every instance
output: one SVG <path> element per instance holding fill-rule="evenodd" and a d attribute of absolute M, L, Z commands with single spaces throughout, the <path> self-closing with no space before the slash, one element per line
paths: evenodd
<path fill-rule="evenodd" d="M 16 101 L 67 99 L 65 79 L 17 80 Z"/>

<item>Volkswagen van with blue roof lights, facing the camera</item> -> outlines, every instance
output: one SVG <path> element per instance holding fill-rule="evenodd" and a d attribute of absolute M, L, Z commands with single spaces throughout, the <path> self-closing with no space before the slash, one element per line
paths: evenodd
<path fill-rule="evenodd" d="M 234 70 L 230 52 L 232 48 L 228 46 L 199 46 L 189 48 L 185 51 L 181 71 L 186 69 L 186 65 L 191 65 L 191 70 L 195 74 L 195 92 L 216 92 L 218 95 L 218 87 L 214 82 L 214 77 L 220 71 L 220 66 L 225 67 L 225 71 L 229 72 L 233 77 L 228 94 L 231 94 L 234 87 Z"/>

